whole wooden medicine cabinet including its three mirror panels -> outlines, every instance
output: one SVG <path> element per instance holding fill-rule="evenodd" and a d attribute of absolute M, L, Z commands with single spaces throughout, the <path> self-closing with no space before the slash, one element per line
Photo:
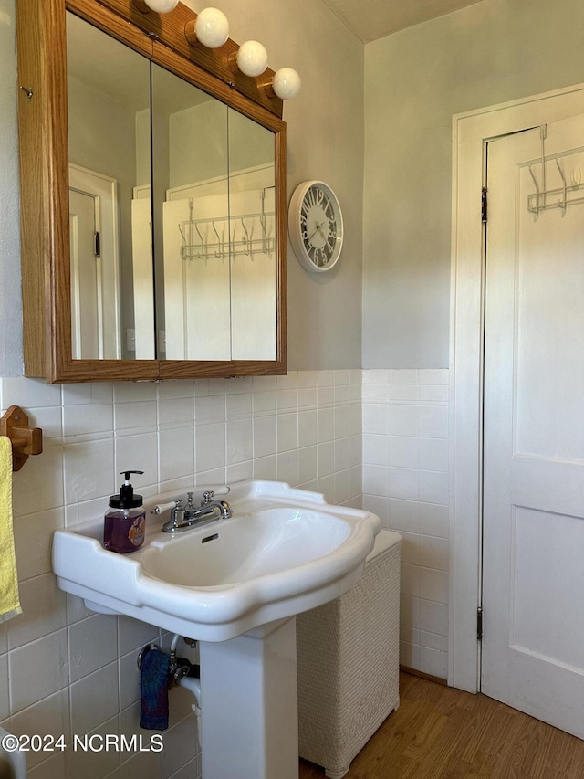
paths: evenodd
<path fill-rule="evenodd" d="M 286 125 L 139 0 L 17 0 L 25 374 L 286 373 Z"/>

